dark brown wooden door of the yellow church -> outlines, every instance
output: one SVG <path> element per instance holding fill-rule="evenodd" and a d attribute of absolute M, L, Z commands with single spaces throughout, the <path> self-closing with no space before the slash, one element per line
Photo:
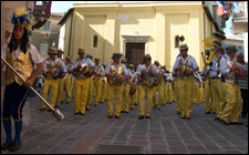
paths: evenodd
<path fill-rule="evenodd" d="M 127 60 L 128 64 L 134 64 L 135 69 L 138 64 L 143 63 L 145 43 L 126 43 L 125 59 Z"/>

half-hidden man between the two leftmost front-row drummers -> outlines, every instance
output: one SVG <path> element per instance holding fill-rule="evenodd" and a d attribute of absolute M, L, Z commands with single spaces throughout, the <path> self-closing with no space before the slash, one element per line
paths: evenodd
<path fill-rule="evenodd" d="M 70 102 L 70 99 L 71 99 L 71 94 L 72 94 L 72 63 L 71 63 L 71 58 L 70 56 L 66 56 L 65 58 L 65 66 L 66 66 L 66 70 L 68 70 L 68 73 L 65 74 L 65 78 L 64 78 L 64 89 L 63 89 L 63 93 L 64 93 L 64 90 L 65 90 L 65 101 L 66 103 Z M 64 99 L 63 99 L 64 100 Z"/>

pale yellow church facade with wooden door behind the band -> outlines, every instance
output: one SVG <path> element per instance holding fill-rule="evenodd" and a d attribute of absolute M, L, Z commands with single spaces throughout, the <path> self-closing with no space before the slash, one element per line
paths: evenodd
<path fill-rule="evenodd" d="M 214 1 L 80 1 L 59 22 L 64 32 L 59 42 L 73 59 L 85 48 L 101 63 L 121 52 L 137 65 L 149 53 L 172 70 L 179 53 L 176 37 L 184 35 L 201 69 L 203 40 L 221 30 L 215 9 Z"/>

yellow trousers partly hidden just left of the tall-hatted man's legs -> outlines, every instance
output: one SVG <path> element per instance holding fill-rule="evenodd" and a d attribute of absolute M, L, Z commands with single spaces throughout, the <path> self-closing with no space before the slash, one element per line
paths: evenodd
<path fill-rule="evenodd" d="M 205 110 L 206 112 L 210 112 L 210 110 L 212 112 L 216 112 L 216 108 L 212 104 L 212 97 L 211 97 L 211 89 L 210 89 L 210 85 L 209 85 L 209 81 L 205 81 L 205 85 L 204 85 L 204 96 L 205 96 Z M 211 102 L 210 102 L 211 100 Z"/>

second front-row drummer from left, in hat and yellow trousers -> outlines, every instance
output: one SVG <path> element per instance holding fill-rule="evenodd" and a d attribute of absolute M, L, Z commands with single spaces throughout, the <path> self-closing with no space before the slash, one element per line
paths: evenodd
<path fill-rule="evenodd" d="M 75 59 L 73 63 L 73 74 L 75 76 L 74 114 L 85 115 L 85 104 L 89 95 L 89 76 L 93 74 L 95 65 L 91 59 L 85 58 L 84 48 L 79 48 L 77 53 L 79 58 Z"/>

